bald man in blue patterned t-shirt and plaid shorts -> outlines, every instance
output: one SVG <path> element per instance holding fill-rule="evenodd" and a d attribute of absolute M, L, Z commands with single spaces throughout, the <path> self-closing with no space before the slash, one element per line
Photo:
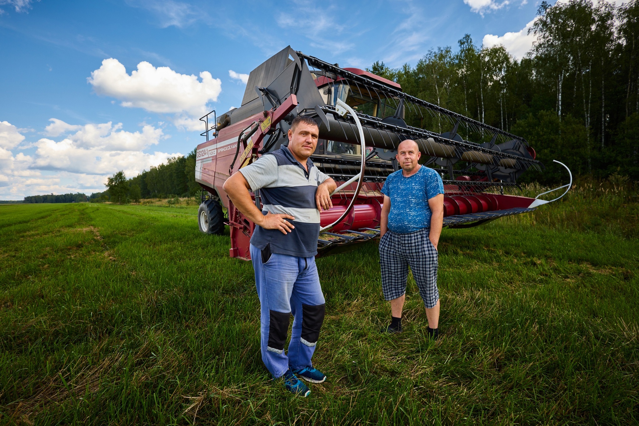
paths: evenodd
<path fill-rule="evenodd" d="M 419 164 L 420 156 L 417 142 L 401 142 L 395 157 L 401 170 L 390 174 L 381 189 L 381 288 L 385 300 L 390 301 L 392 315 L 390 325 L 382 331 L 402 331 L 401 313 L 410 266 L 426 307 L 428 335 L 437 339 L 437 243 L 443 224 L 443 182 L 436 171 Z"/>

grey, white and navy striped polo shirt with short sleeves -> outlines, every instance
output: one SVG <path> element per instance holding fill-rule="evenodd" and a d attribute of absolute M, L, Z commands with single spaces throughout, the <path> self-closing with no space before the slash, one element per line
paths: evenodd
<path fill-rule="evenodd" d="M 311 158 L 306 160 L 306 166 L 308 171 L 282 146 L 240 169 L 250 189 L 259 190 L 263 215 L 283 213 L 295 218 L 291 221 L 295 229 L 286 235 L 279 229 L 256 226 L 250 243 L 260 250 L 270 244 L 272 253 L 299 257 L 318 253 L 319 210 L 315 193 L 328 176 L 318 170 Z"/>

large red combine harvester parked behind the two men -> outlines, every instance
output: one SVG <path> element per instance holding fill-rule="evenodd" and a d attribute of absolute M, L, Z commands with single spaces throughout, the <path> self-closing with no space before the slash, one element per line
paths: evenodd
<path fill-rule="evenodd" d="M 568 185 L 535 199 L 505 195 L 504 187 L 517 186 L 521 173 L 544 169 L 525 139 L 406 95 L 399 84 L 378 75 L 339 68 L 287 47 L 250 73 L 240 108 L 201 118 L 206 142 L 197 146 L 196 157 L 196 181 L 204 190 L 199 229 L 221 234 L 224 204 L 231 257 L 250 259 L 255 224 L 233 206 L 222 185 L 263 153 L 288 144 L 290 123 L 300 114 L 319 123 L 311 160 L 338 185 L 334 207 L 321 212 L 318 257 L 379 237 L 380 190 L 399 170 L 396 148 L 405 139 L 417 142 L 424 165 L 443 178 L 443 225 L 449 228 L 533 211 L 549 202 L 539 195 L 560 188 L 567 192 L 572 183 L 571 176 Z M 259 191 L 252 196 L 261 206 Z"/>

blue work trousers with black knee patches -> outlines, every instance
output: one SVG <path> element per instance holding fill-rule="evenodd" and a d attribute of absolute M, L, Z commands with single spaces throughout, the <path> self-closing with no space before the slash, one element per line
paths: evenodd
<path fill-rule="evenodd" d="M 273 378 L 288 369 L 312 367 L 311 358 L 324 321 L 325 300 L 315 257 L 273 253 L 262 262 L 259 248 L 250 245 L 261 317 L 261 353 Z M 288 326 L 293 330 L 284 353 Z"/>

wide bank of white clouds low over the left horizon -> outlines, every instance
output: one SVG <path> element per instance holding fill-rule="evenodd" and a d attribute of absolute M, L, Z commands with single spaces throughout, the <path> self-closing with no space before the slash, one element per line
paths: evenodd
<path fill-rule="evenodd" d="M 114 172 L 123 170 L 132 177 L 171 156 L 181 155 L 144 152 L 166 137 L 162 129 L 151 125 L 127 132 L 121 123 L 71 125 L 60 119 L 50 122 L 47 135 L 56 134 L 61 140 L 43 137 L 31 144 L 36 148 L 33 155 L 12 153 L 11 149 L 19 147 L 25 137 L 15 126 L 0 122 L 0 198 L 102 191 L 107 176 Z"/>

